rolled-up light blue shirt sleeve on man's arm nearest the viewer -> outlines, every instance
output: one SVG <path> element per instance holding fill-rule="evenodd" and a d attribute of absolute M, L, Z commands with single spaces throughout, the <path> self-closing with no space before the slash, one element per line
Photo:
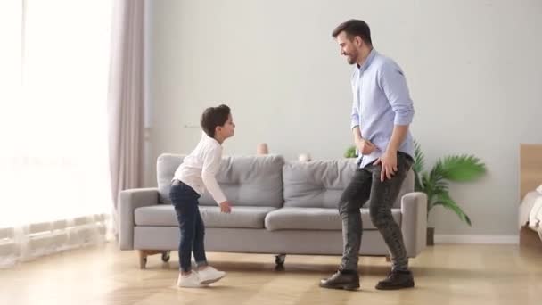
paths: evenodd
<path fill-rule="evenodd" d="M 395 62 L 386 62 L 378 74 L 379 86 L 395 112 L 395 125 L 409 125 L 414 118 L 414 106 L 403 71 Z"/>

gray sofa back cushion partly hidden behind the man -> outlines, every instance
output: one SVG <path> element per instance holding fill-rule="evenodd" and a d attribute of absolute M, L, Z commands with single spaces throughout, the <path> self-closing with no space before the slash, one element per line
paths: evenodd
<path fill-rule="evenodd" d="M 355 159 L 287 162 L 283 167 L 284 207 L 337 208 L 341 194 L 357 169 Z M 400 208 L 404 194 L 414 191 L 410 170 L 393 204 Z"/>

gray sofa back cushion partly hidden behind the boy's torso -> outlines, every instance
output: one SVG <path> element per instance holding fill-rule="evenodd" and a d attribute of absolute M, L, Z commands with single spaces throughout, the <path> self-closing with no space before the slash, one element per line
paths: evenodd
<path fill-rule="evenodd" d="M 170 203 L 169 185 L 183 156 L 162 154 L 158 158 L 160 202 Z M 218 185 L 228 201 L 236 207 L 283 205 L 283 164 L 279 155 L 224 157 L 217 174 Z M 217 206 L 208 192 L 200 205 Z"/>

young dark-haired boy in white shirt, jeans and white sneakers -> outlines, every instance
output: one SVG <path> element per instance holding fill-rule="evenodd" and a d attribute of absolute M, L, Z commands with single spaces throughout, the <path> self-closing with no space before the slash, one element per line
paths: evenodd
<path fill-rule="evenodd" d="M 204 134 L 200 143 L 176 170 L 169 192 L 181 230 L 179 287 L 201 287 L 226 276 L 226 272 L 218 271 L 207 263 L 203 243 L 205 226 L 198 209 L 198 198 L 207 189 L 221 212 L 231 211 L 231 203 L 226 200 L 215 178 L 222 159 L 222 143 L 234 136 L 235 124 L 229 107 L 220 105 L 203 111 L 201 128 Z M 197 271 L 191 268 L 192 253 Z"/>

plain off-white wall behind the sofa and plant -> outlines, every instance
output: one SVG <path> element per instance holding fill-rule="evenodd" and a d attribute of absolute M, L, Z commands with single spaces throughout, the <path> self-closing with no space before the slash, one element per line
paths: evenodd
<path fill-rule="evenodd" d="M 542 143 L 542 1 L 152 1 L 148 4 L 150 161 L 189 152 L 201 111 L 233 109 L 226 154 L 271 152 L 341 158 L 351 143 L 352 67 L 330 36 L 350 18 L 406 71 L 415 101 L 411 130 L 432 163 L 473 153 L 489 172 L 453 185 L 472 218 L 434 210 L 437 233 L 515 235 L 518 149 Z"/>

